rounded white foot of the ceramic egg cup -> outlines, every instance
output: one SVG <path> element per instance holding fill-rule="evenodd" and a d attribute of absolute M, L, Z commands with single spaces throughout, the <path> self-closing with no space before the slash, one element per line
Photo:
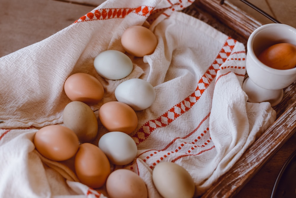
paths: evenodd
<path fill-rule="evenodd" d="M 269 102 L 271 107 L 278 105 L 284 96 L 284 90 L 268 90 L 256 85 L 249 77 L 242 84 L 242 90 L 248 96 L 248 102 Z"/>

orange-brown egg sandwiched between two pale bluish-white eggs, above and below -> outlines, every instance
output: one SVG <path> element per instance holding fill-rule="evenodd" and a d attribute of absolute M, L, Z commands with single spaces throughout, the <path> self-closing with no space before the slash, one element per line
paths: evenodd
<path fill-rule="evenodd" d="M 130 134 L 138 125 L 136 112 L 127 104 L 111 101 L 99 109 L 99 119 L 108 131 L 120 131 Z"/>

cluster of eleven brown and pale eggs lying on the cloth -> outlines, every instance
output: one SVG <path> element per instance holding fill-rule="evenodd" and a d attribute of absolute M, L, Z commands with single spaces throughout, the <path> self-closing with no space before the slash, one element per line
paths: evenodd
<path fill-rule="evenodd" d="M 128 28 L 121 42 L 126 52 L 137 57 L 151 54 L 157 45 L 156 36 L 143 26 Z M 94 67 L 105 79 L 118 80 L 131 74 L 133 63 L 123 52 L 106 50 L 96 56 Z M 108 132 L 97 146 L 91 142 L 97 137 L 98 120 L 89 105 L 102 100 L 104 87 L 94 76 L 76 73 L 66 79 L 64 90 L 72 100 L 63 111 L 64 125 L 49 125 L 36 132 L 34 144 L 39 153 L 55 161 L 74 158 L 75 173 L 81 183 L 91 188 L 106 185 L 110 198 L 148 197 L 146 184 L 139 175 L 124 168 L 111 173 L 110 163 L 127 165 L 136 158 L 137 146 L 129 134 L 138 125 L 135 111 L 144 110 L 154 102 L 153 86 L 142 79 L 129 79 L 116 87 L 117 101 L 99 108 L 99 119 Z M 172 162 L 160 164 L 153 170 L 153 181 L 160 194 L 192 197 L 194 182 L 189 173 Z M 163 174 L 167 175 L 159 177 Z M 173 180 L 172 175 L 175 175 Z M 178 181 L 178 187 L 168 191 L 172 181 Z"/>

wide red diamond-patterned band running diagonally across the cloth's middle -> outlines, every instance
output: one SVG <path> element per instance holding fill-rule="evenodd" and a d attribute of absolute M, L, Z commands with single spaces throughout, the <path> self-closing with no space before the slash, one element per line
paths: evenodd
<path fill-rule="evenodd" d="M 200 99 L 201 95 L 204 93 L 213 79 L 215 79 L 219 67 L 231 54 L 236 42 L 236 40 L 230 37 L 226 39 L 220 52 L 218 52 L 218 55 L 216 56 L 210 67 L 207 69 L 205 74 L 202 75 L 197 84 L 196 90 L 191 95 L 187 96 L 184 100 L 171 107 L 160 117 L 147 121 L 145 124 L 142 125 L 142 127 L 140 127 L 137 132 L 135 132 L 135 134 L 132 135 L 132 138 L 137 145 L 146 140 L 149 135 L 153 131 L 155 131 L 155 129 L 169 125 L 176 118 L 191 109 L 191 107 Z"/>

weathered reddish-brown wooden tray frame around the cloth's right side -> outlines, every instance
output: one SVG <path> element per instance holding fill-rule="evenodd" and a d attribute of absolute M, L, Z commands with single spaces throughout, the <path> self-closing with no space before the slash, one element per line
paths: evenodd
<path fill-rule="evenodd" d="M 245 46 L 250 34 L 262 25 L 237 7 L 227 2 L 221 5 L 218 0 L 197 0 L 183 12 L 208 23 Z M 277 113 L 274 124 L 247 149 L 239 161 L 222 175 L 202 198 L 234 197 L 292 137 L 296 131 L 295 86 L 294 82 L 285 88 L 283 100 L 274 107 Z"/>

